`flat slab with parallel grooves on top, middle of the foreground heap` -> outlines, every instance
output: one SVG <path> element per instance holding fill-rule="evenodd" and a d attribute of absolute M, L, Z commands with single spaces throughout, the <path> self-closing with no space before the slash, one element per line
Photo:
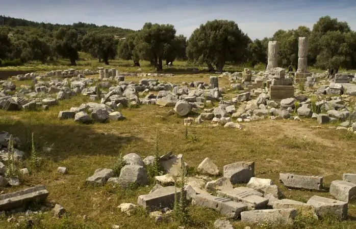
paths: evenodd
<path fill-rule="evenodd" d="M 223 189 L 218 191 L 218 196 L 227 197 L 236 202 L 242 202 L 252 209 L 264 209 L 268 199 L 253 194 L 253 191 L 240 191 L 238 189 Z"/>

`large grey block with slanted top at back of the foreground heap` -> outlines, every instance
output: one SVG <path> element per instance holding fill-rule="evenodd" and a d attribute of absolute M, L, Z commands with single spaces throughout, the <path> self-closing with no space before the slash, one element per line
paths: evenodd
<path fill-rule="evenodd" d="M 223 176 L 232 184 L 247 183 L 251 177 L 255 176 L 255 162 L 242 161 L 225 165 Z"/>

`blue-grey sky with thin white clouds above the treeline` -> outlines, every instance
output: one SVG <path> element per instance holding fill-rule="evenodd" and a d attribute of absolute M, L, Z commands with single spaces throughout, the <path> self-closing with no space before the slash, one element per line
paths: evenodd
<path fill-rule="evenodd" d="M 0 14 L 39 22 L 87 22 L 138 30 L 145 22 L 170 23 L 189 37 L 213 19 L 237 22 L 251 39 L 271 37 L 278 29 L 313 27 L 329 15 L 356 30 L 355 0 L 0 0 Z"/>

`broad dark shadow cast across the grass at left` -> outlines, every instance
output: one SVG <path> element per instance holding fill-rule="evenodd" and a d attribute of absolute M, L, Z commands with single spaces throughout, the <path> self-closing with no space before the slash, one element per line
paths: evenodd
<path fill-rule="evenodd" d="M 98 124 L 108 125 L 108 124 Z M 117 156 L 120 148 L 140 141 L 141 138 L 126 134 L 115 135 L 106 132 L 96 132 L 92 124 L 44 124 L 27 123 L 19 120 L 0 122 L 0 130 L 9 132 L 21 140 L 19 150 L 27 156 L 31 151 L 31 134 L 38 156 L 49 157 L 55 161 L 72 156 L 107 155 Z M 50 147 L 50 152 L 43 153 L 43 147 Z"/>

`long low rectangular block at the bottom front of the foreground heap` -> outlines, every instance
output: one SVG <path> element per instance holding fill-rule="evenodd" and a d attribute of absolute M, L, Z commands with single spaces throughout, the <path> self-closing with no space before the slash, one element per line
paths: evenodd
<path fill-rule="evenodd" d="M 295 209 L 253 210 L 241 212 L 241 221 L 258 224 L 280 222 L 291 225 L 296 215 Z"/>

